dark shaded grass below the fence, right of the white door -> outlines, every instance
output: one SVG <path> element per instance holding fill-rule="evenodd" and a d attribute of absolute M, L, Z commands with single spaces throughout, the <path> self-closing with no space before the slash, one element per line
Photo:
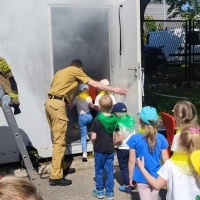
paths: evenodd
<path fill-rule="evenodd" d="M 194 66 L 190 81 L 185 72 L 185 67 L 180 65 L 147 70 L 143 105 L 154 106 L 159 114 L 172 114 L 178 101 L 188 100 L 195 105 L 200 115 L 200 65 Z"/>

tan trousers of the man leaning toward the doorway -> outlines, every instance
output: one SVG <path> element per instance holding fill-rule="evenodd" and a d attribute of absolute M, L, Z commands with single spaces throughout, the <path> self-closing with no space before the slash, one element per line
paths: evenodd
<path fill-rule="evenodd" d="M 45 104 L 46 117 L 52 133 L 53 154 L 50 179 L 63 178 L 66 168 L 64 155 L 66 149 L 67 112 L 65 102 L 48 99 Z"/>

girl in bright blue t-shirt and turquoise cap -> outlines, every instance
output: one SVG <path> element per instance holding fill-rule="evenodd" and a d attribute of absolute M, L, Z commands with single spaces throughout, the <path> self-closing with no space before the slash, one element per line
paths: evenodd
<path fill-rule="evenodd" d="M 143 176 L 136 165 L 137 157 L 145 157 L 145 167 L 155 178 L 157 171 L 161 167 L 161 159 L 165 162 L 168 157 L 167 148 L 169 146 L 166 138 L 157 132 L 158 122 L 157 111 L 154 107 L 143 107 L 139 113 L 141 129 L 139 133 L 132 135 L 127 141 L 130 147 L 129 152 L 129 179 L 133 186 L 133 180 L 137 183 L 137 188 L 141 200 L 158 200 L 159 190 L 154 189 Z"/>

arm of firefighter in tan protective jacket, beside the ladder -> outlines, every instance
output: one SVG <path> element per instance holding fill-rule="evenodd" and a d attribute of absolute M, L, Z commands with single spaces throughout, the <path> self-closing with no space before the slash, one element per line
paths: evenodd
<path fill-rule="evenodd" d="M 5 92 L 11 97 L 11 104 L 14 108 L 14 114 L 21 113 L 19 109 L 18 89 L 15 78 L 11 72 L 10 66 L 6 60 L 0 57 L 0 84 Z"/>

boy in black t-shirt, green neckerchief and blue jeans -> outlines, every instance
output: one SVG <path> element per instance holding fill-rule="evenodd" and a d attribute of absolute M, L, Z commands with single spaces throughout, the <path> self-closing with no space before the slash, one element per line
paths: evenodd
<path fill-rule="evenodd" d="M 91 124 L 91 140 L 94 148 L 96 188 L 92 195 L 101 199 L 106 196 L 114 199 L 114 139 L 117 128 L 117 116 L 111 113 L 113 102 L 109 95 L 103 95 L 99 101 L 100 113 Z M 104 185 L 103 174 L 106 171 Z M 104 190 L 105 188 L 105 190 Z"/>

